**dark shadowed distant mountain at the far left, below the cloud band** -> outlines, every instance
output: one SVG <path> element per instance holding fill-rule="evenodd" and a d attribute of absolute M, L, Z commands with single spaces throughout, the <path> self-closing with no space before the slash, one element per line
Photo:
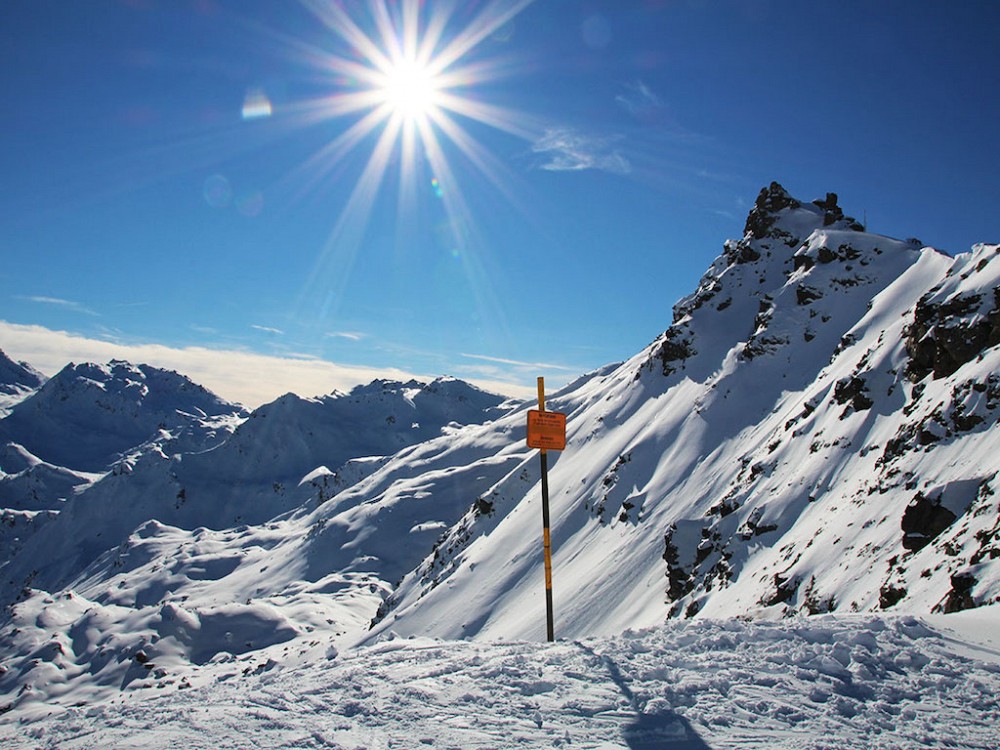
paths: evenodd
<path fill-rule="evenodd" d="M 0 507 L 57 509 L 139 455 L 217 445 L 245 416 L 176 372 L 67 365 L 0 419 Z"/>

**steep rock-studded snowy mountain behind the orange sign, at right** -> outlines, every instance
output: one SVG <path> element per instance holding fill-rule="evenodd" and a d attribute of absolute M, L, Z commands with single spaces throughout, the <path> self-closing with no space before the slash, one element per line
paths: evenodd
<path fill-rule="evenodd" d="M 552 399 L 569 415 L 550 475 L 557 633 L 1000 597 L 1000 351 L 987 336 L 954 371 L 908 364 L 921 305 L 975 289 L 948 325 L 995 315 L 998 249 L 951 259 L 861 232 L 835 206 L 762 191 L 663 336 Z M 491 513 L 407 576 L 379 629 L 544 632 L 540 489 L 532 461 L 524 471 L 530 486 L 489 489 Z M 951 522 L 921 526 L 928 515 Z"/>

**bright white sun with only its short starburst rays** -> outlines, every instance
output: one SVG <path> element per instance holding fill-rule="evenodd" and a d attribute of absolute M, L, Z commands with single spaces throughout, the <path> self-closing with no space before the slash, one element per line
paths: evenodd
<path fill-rule="evenodd" d="M 461 3 L 424 0 L 300 1 L 332 33 L 331 48 L 343 50 L 323 51 L 310 61 L 329 76 L 333 91 L 303 112 L 310 122 L 354 118 L 338 128 L 316 161 L 338 162 L 375 135 L 356 187 L 367 198 L 374 197 L 390 164 L 399 165 L 405 182 L 423 160 L 439 184 L 451 185 L 448 152 L 487 170 L 490 156 L 463 121 L 534 136 L 523 117 L 480 95 L 484 84 L 508 71 L 477 49 L 488 47 L 494 35 L 502 38 L 499 32 L 534 0 L 490 0 L 474 12 Z M 401 152 L 400 158 L 393 152 Z"/>

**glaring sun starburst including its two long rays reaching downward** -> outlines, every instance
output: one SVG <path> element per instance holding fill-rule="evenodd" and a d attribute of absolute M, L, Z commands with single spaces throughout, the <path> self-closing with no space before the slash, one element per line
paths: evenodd
<path fill-rule="evenodd" d="M 530 118 L 488 104 L 469 92 L 508 73 L 509 62 L 471 59 L 473 50 L 509 23 L 533 0 L 491 0 L 466 23 L 458 2 L 424 3 L 372 0 L 354 5 L 302 0 L 346 51 L 332 53 L 299 45 L 297 53 L 330 76 L 330 94 L 287 109 L 298 123 L 322 127 L 326 122 L 356 118 L 302 165 L 309 188 L 335 171 L 342 179 L 352 152 L 378 133 L 371 153 L 340 209 L 324 250 L 299 295 L 299 307 L 317 294 L 332 299 L 322 314 L 336 314 L 352 268 L 364 245 L 374 206 L 390 168 L 398 174 L 397 242 L 412 246 L 402 227 L 421 196 L 426 180 L 446 217 L 448 251 L 460 261 L 481 315 L 503 328 L 502 306 L 492 293 L 485 272 L 486 243 L 479 236 L 474 214 L 454 163 L 458 158 L 485 184 L 499 188 L 518 205 L 509 170 L 469 133 L 460 120 L 477 123 L 526 140 L 542 128 Z M 456 119 L 457 118 L 457 119 Z M 468 177 L 468 175 L 465 175 Z M 431 179 L 433 178 L 433 180 Z M 427 184 L 427 183 L 423 183 Z M 402 239 L 406 237 L 407 239 Z M 401 245 L 403 246 L 403 245 Z M 324 294 L 324 292 L 327 292 Z M 332 295 L 332 296 L 331 296 Z M 324 303 L 325 306 L 325 303 Z"/>

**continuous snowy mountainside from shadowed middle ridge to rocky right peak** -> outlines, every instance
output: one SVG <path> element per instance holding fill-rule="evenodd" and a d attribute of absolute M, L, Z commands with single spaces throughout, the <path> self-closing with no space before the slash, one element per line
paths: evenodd
<path fill-rule="evenodd" d="M 762 190 L 661 336 L 549 398 L 557 635 L 1000 601 L 998 255 Z M 375 383 L 136 452 L 0 568 L 0 692 L 28 711 L 306 642 L 540 639 L 530 407 Z"/>

